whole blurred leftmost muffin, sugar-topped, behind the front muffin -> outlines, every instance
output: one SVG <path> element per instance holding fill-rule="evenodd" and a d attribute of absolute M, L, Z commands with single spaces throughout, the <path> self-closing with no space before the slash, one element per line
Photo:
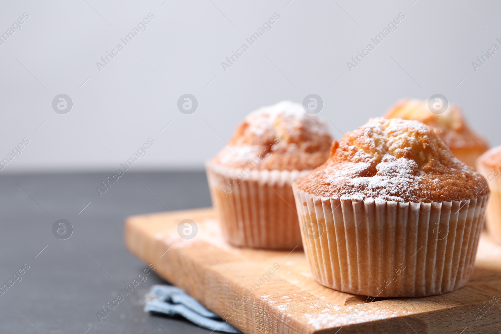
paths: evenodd
<path fill-rule="evenodd" d="M 235 246 L 301 247 L 292 182 L 323 164 L 332 137 L 302 105 L 284 101 L 245 117 L 206 164 L 223 235 Z"/>

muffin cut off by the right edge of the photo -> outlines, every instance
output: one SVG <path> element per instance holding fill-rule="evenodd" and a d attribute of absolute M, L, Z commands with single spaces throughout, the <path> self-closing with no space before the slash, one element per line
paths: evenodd
<path fill-rule="evenodd" d="M 491 148 L 477 159 L 478 171 L 491 191 L 485 225 L 494 240 L 501 243 L 501 146 Z"/>

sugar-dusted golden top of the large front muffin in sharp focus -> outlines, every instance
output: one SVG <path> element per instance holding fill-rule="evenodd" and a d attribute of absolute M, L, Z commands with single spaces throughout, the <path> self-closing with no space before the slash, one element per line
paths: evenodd
<path fill-rule="evenodd" d="M 439 131 L 417 121 L 370 119 L 334 141 L 329 160 L 296 186 L 317 196 L 397 202 L 460 201 L 488 193 Z"/>

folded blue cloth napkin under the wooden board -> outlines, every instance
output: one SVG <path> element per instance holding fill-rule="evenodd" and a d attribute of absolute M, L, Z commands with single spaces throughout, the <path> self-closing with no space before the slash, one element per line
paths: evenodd
<path fill-rule="evenodd" d="M 158 298 L 146 304 L 146 312 L 180 315 L 200 327 L 226 333 L 242 333 L 177 286 L 153 285 L 150 292 Z"/>

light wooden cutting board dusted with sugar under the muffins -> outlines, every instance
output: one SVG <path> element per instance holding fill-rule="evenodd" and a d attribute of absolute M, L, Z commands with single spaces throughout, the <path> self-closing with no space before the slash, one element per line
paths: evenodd
<path fill-rule="evenodd" d="M 190 231 L 184 224 L 190 221 L 184 219 L 194 221 L 196 228 L 191 223 Z M 185 234 L 194 237 L 185 239 Z M 244 333 L 501 331 L 501 245 L 486 235 L 464 288 L 439 296 L 375 301 L 318 284 L 301 245 L 292 252 L 228 245 L 215 210 L 129 217 L 125 243 L 145 263 L 153 263 L 158 275 Z"/>

